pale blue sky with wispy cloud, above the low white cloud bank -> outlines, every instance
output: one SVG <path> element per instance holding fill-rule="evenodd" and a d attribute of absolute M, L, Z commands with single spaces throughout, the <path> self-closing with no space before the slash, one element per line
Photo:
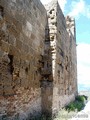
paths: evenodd
<path fill-rule="evenodd" d="M 90 44 L 90 0 L 67 0 L 64 14 L 75 17 L 77 44 Z"/>

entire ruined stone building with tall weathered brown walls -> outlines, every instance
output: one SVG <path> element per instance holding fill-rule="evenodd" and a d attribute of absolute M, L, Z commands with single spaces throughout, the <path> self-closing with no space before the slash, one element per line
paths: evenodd
<path fill-rule="evenodd" d="M 0 0 L 0 120 L 54 116 L 77 95 L 75 20 L 57 1 Z"/>

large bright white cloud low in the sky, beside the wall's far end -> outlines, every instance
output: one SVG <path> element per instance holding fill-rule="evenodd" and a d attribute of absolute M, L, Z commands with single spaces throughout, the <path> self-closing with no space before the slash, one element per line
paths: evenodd
<path fill-rule="evenodd" d="M 90 44 L 77 46 L 78 84 L 90 88 Z"/>

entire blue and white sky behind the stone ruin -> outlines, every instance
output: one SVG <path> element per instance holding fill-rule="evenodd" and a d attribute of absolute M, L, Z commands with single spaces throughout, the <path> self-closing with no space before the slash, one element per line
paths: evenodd
<path fill-rule="evenodd" d="M 41 0 L 47 4 L 52 0 Z M 58 0 L 64 15 L 76 22 L 78 90 L 90 90 L 90 0 Z"/>

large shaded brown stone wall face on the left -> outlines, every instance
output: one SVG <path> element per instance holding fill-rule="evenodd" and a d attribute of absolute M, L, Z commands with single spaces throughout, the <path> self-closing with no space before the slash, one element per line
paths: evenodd
<path fill-rule="evenodd" d="M 0 116 L 22 120 L 41 113 L 46 21 L 39 0 L 0 1 Z"/>

